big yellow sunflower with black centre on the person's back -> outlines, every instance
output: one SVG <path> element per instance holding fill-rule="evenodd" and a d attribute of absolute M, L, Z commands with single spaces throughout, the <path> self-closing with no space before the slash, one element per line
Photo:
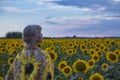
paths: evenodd
<path fill-rule="evenodd" d="M 20 78 L 21 80 L 33 80 L 35 75 L 37 74 L 37 71 L 39 69 L 38 65 L 40 65 L 39 62 L 36 61 L 36 59 L 23 59 L 22 60 L 22 66 L 21 66 L 21 74 Z"/>

